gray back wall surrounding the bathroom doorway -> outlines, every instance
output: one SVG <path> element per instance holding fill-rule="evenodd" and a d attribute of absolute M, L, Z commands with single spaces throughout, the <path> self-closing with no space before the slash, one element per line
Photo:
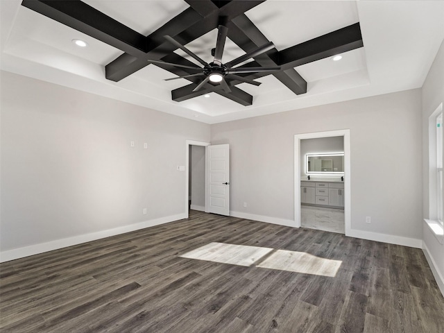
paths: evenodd
<path fill-rule="evenodd" d="M 212 144 L 230 144 L 231 210 L 293 220 L 294 135 L 350 128 L 352 229 L 421 239 L 420 110 L 413 89 L 213 125 Z"/>

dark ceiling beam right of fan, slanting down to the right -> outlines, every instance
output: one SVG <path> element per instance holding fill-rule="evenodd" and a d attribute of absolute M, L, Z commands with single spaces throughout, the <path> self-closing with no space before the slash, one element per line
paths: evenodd
<path fill-rule="evenodd" d="M 269 42 L 245 14 L 232 19 L 228 25 L 228 37 L 246 52 Z M 259 65 L 264 67 L 278 65 L 278 59 L 278 50 L 276 49 L 255 57 Z M 271 74 L 295 94 L 305 94 L 307 92 L 307 81 L 295 69 L 287 69 L 287 71 Z"/>

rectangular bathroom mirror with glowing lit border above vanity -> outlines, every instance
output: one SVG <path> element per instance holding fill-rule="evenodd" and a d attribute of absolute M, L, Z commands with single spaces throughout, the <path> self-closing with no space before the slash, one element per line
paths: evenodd
<path fill-rule="evenodd" d="M 344 154 L 305 155 L 306 173 L 344 173 Z"/>

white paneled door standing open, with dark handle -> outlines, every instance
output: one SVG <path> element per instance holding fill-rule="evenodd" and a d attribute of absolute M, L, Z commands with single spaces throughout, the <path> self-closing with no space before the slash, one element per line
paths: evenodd
<path fill-rule="evenodd" d="M 230 215 L 230 145 L 207 146 L 208 213 Z"/>

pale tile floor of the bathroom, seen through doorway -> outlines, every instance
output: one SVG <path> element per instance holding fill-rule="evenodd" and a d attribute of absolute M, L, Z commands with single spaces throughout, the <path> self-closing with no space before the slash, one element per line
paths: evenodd
<path fill-rule="evenodd" d="M 301 226 L 317 230 L 345 233 L 344 211 L 301 205 Z"/>

